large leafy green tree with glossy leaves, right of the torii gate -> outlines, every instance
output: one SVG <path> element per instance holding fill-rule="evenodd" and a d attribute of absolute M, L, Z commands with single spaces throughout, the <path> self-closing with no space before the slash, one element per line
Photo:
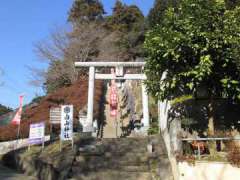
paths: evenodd
<path fill-rule="evenodd" d="M 169 8 L 146 36 L 149 92 L 161 100 L 186 94 L 208 97 L 211 119 L 214 98 L 237 101 L 239 17 L 240 7 L 228 10 L 217 0 L 182 0 Z"/>

